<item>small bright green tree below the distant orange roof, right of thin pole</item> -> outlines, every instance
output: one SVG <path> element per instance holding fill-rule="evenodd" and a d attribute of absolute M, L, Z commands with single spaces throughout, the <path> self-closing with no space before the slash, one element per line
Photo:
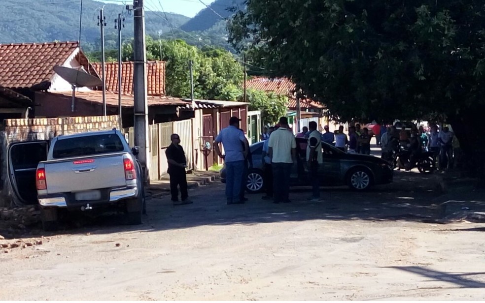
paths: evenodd
<path fill-rule="evenodd" d="M 243 98 L 244 96 L 241 95 L 239 101 L 243 101 Z M 246 102 L 250 103 L 248 106 L 250 111 L 261 111 L 261 120 L 264 124 L 274 124 L 281 116 L 286 115 L 288 97 L 274 92 L 248 89 Z"/>

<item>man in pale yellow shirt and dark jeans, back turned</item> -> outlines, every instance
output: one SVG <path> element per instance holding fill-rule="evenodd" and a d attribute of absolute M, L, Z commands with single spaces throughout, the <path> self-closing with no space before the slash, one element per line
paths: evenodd
<path fill-rule="evenodd" d="M 289 203 L 290 174 L 293 159 L 296 159 L 295 136 L 288 131 L 288 118 L 279 118 L 279 128 L 270 136 L 268 154 L 273 168 L 273 203 Z"/>

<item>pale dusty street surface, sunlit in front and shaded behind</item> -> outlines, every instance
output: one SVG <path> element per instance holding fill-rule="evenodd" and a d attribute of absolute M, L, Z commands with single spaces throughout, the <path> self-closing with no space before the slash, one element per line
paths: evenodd
<path fill-rule="evenodd" d="M 228 206 L 215 182 L 192 205 L 150 200 L 141 226 L 106 217 L 8 248 L 0 300 L 484 300 L 485 224 L 434 222 L 433 188 L 399 173 L 322 203 Z"/>

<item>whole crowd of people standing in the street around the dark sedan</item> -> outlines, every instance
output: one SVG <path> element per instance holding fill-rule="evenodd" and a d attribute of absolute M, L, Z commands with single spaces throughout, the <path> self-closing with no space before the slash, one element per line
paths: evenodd
<path fill-rule="evenodd" d="M 249 143 L 240 128 L 240 119 L 231 117 L 229 126 L 222 129 L 214 140 L 214 151 L 224 159 L 226 166 L 226 198 L 227 204 L 243 204 L 248 167 L 252 166 L 252 157 Z M 438 167 L 442 170 L 453 167 L 453 160 L 459 157 L 459 143 L 448 127 L 440 129 L 431 125 L 429 129 L 424 126 L 411 128 L 404 126 L 398 130 L 394 125 L 377 124 L 371 130 L 361 127 L 360 124 L 351 124 L 348 135 L 344 126 L 332 132 L 328 126 L 317 129 L 317 123 L 311 121 L 304 126 L 301 133 L 293 135 L 288 125 L 288 119 L 281 117 L 275 126 L 264 127 L 260 139 L 263 143 L 262 157 L 264 159 L 264 186 L 266 195 L 264 200 L 273 200 L 274 203 L 289 203 L 290 174 L 293 163 L 296 162 L 296 138 L 305 138 L 300 149 L 306 150 L 306 160 L 310 180 L 312 180 L 311 201 L 320 201 L 318 183 L 318 167 L 323 163 L 322 142 L 335 146 L 348 153 L 369 155 L 371 152 L 371 139 L 375 136 L 376 142 L 381 146 L 383 159 L 389 160 L 397 150 L 406 151 L 401 157 L 408 157 L 408 163 L 420 152 L 432 152 Z M 171 136 L 172 144 L 166 150 L 170 175 L 170 187 L 174 205 L 189 204 L 192 201 L 187 194 L 187 181 L 185 174 L 186 159 L 183 148 L 180 146 L 180 137 Z M 220 144 L 224 147 L 221 152 Z M 406 167 L 409 169 L 410 167 Z M 178 187 L 181 192 L 181 201 L 178 200 Z M 277 190 L 274 190 L 277 188 Z"/>

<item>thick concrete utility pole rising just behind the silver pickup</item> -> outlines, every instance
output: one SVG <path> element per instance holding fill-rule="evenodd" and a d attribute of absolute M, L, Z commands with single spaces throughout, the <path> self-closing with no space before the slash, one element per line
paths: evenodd
<path fill-rule="evenodd" d="M 145 50 L 145 11 L 143 0 L 133 1 L 134 10 L 134 71 L 133 91 L 135 94 L 135 146 L 139 147 L 138 160 L 143 169 L 143 180 L 148 180 L 150 167 L 148 156 L 148 104 L 146 101 L 146 50 Z"/>

